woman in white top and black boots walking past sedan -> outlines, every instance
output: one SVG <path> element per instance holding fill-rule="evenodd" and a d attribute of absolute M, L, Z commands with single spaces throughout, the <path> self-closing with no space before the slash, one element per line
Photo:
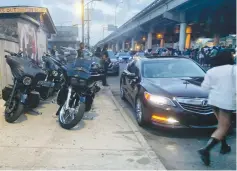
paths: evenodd
<path fill-rule="evenodd" d="M 216 55 L 212 66 L 207 71 L 202 88 L 209 92 L 208 104 L 213 107 L 218 120 L 218 127 L 211 135 L 206 146 L 198 150 L 205 165 L 210 165 L 210 150 L 221 142 L 221 154 L 231 151 L 226 136 L 231 126 L 231 115 L 236 110 L 236 66 L 231 53 L 221 51 Z"/>

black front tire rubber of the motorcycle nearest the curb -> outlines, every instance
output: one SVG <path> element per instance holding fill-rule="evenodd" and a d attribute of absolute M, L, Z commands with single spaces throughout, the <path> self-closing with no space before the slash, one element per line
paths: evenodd
<path fill-rule="evenodd" d="M 75 127 L 83 118 L 84 113 L 85 113 L 85 108 L 86 108 L 85 104 L 81 103 L 78 109 L 77 115 L 75 116 L 74 120 L 69 124 L 62 123 L 60 119 L 60 111 L 59 111 L 58 120 L 59 120 L 60 126 L 64 129 L 72 129 L 73 127 Z"/>

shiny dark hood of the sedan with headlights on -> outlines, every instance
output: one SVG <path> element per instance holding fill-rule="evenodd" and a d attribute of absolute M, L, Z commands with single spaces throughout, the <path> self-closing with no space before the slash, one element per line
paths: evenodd
<path fill-rule="evenodd" d="M 154 93 L 165 93 L 175 97 L 207 98 L 208 92 L 201 88 L 202 77 L 196 78 L 146 78 L 145 84 L 150 84 Z"/>

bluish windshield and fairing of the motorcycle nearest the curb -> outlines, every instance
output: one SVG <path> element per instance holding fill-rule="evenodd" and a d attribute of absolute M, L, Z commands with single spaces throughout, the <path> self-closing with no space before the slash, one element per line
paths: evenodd
<path fill-rule="evenodd" d="M 67 75 L 69 77 L 80 77 L 82 79 L 89 79 L 91 64 L 93 61 L 88 59 L 76 59 L 73 63 L 69 63 L 67 68 Z"/>

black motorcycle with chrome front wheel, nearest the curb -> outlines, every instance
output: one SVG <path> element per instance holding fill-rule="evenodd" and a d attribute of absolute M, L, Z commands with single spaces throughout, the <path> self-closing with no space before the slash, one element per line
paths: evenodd
<path fill-rule="evenodd" d="M 98 64 L 86 59 L 76 59 L 74 63 L 63 66 L 65 82 L 59 90 L 57 104 L 60 106 L 56 115 L 61 127 L 71 129 L 83 118 L 84 113 L 91 109 L 95 94 L 100 90 L 97 81 L 102 75 Z"/>

